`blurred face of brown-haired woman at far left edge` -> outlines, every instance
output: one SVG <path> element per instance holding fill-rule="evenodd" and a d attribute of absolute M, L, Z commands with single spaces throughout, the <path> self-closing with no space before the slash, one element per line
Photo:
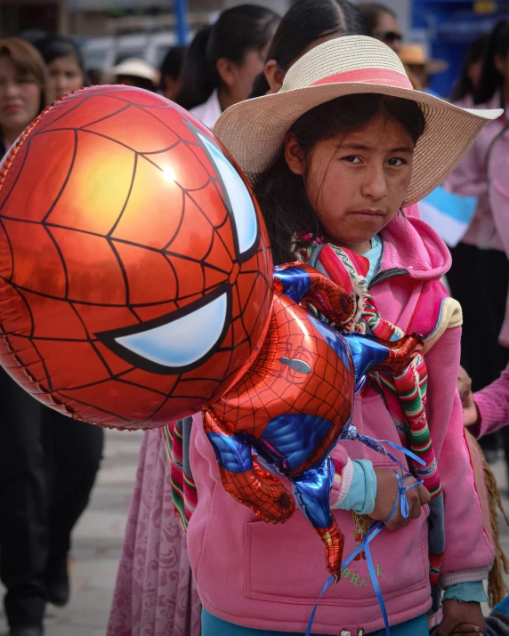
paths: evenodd
<path fill-rule="evenodd" d="M 0 128 L 21 133 L 39 114 L 40 104 L 35 81 L 20 76 L 9 58 L 0 57 Z"/>

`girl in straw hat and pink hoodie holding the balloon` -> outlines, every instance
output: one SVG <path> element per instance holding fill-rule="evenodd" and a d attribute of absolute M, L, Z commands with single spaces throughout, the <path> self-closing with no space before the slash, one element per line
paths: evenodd
<path fill-rule="evenodd" d="M 421 509 L 425 500 L 414 495 L 412 519 L 392 519 L 398 531 L 385 529 L 371 544 L 393 634 L 428 633 L 429 552 L 435 553 L 432 578 L 440 576 L 446 590 L 440 636 L 485 632 L 481 581 L 493 553 L 456 393 L 461 319 L 440 285 L 450 258 L 432 229 L 399 211 L 440 183 L 486 118 L 494 116 L 497 112 L 474 115 L 413 91 L 394 52 L 374 39 L 351 36 L 306 53 L 279 93 L 241 102 L 215 127 L 254 184 L 275 262 L 304 258 L 333 280 L 345 264 L 357 276 L 354 263 L 365 263 L 362 273 L 372 296 L 363 308 L 368 324 L 375 330 L 384 318 L 402 332 L 426 336 L 431 440 L 421 443 L 437 458 L 438 472 L 432 464 L 430 473 L 438 479 L 440 472 L 444 516 L 435 516 L 428 528 L 428 507 Z M 356 254 L 365 254 L 368 262 Z M 361 320 L 358 326 L 367 325 Z M 398 429 L 404 438 L 412 419 L 408 393 L 398 388 L 399 378 L 377 380 L 357 396 L 353 423 L 364 435 L 400 443 Z M 422 378 L 414 388 L 421 393 L 424 386 Z M 305 632 L 325 580 L 312 528 L 298 513 L 271 526 L 239 505 L 222 488 L 199 417 L 194 424 L 190 457 L 198 506 L 188 546 L 204 605 L 203 635 Z M 339 443 L 333 457 L 338 474 L 331 505 L 346 555 L 360 544 L 369 517 L 389 517 L 398 487 L 392 464 L 360 444 Z M 432 493 L 432 503 L 441 502 L 440 492 Z M 339 583 L 325 592 L 313 633 L 374 633 L 383 627 L 364 556 L 343 568 Z"/>

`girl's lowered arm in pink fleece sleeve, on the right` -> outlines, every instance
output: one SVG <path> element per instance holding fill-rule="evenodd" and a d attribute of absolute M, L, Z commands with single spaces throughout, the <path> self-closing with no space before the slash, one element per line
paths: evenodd
<path fill-rule="evenodd" d="M 443 589 L 482 581 L 488 576 L 493 562 L 493 550 L 484 532 L 481 504 L 474 486 L 462 408 L 456 390 L 460 337 L 460 328 L 447 329 L 425 355 L 429 377 L 426 415 L 444 496 L 446 549 L 440 571 Z M 470 622 L 472 616 L 482 620 L 479 603 L 451 599 L 444 605 L 444 630 L 462 612 L 465 613 L 465 622 Z"/>

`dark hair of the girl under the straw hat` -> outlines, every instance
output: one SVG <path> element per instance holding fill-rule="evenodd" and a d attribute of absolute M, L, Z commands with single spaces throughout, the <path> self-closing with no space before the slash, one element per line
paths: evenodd
<path fill-rule="evenodd" d="M 414 143 L 424 133 L 424 114 L 415 101 L 377 93 L 346 95 L 320 104 L 299 117 L 288 133 L 295 134 L 304 157 L 309 157 L 319 141 L 359 130 L 378 113 L 399 122 Z M 295 260 L 295 247 L 304 245 L 298 237 L 318 237 L 323 233 L 305 193 L 303 178 L 289 169 L 283 150 L 256 182 L 254 195 L 262 208 L 276 264 Z"/>

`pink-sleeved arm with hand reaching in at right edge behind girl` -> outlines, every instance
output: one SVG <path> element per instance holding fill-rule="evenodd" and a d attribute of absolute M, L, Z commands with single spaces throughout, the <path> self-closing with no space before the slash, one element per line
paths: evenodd
<path fill-rule="evenodd" d="M 478 439 L 509 423 L 509 365 L 498 380 L 485 389 L 468 392 L 463 402 L 463 416 L 465 426 Z"/>

